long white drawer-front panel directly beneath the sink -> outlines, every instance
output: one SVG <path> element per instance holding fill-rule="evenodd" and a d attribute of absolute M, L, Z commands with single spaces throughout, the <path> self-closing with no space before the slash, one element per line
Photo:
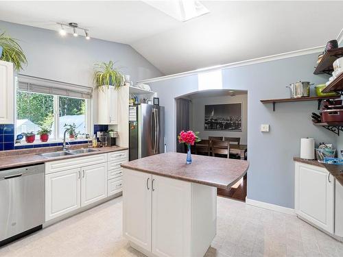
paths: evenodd
<path fill-rule="evenodd" d="M 54 162 L 45 163 L 45 173 L 49 174 L 58 171 L 65 171 L 68 169 L 86 167 L 106 161 L 107 154 L 96 154 L 93 156 L 76 157 L 67 160 L 56 160 Z"/>

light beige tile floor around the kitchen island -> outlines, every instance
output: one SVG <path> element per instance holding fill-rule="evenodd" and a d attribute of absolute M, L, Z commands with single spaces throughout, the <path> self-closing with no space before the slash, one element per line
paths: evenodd
<path fill-rule="evenodd" d="M 121 236 L 121 201 L 108 201 L 2 247 L 0 256 L 143 256 Z M 214 256 L 343 256 L 343 243 L 295 216 L 218 197 L 217 236 L 206 253 Z"/>

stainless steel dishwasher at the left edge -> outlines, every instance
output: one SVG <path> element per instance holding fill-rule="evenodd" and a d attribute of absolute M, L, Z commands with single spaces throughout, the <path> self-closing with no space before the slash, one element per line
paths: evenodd
<path fill-rule="evenodd" d="M 44 164 L 0 170 L 0 246 L 42 228 Z"/>

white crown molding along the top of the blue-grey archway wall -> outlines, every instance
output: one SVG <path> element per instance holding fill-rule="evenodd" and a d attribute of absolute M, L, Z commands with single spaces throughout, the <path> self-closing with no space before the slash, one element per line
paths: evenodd
<path fill-rule="evenodd" d="M 343 40 L 343 32 L 340 33 L 339 36 L 341 36 L 341 40 Z M 158 82 L 158 81 L 163 81 L 163 80 L 167 80 L 167 79 L 175 79 L 177 77 L 185 77 L 185 76 L 195 75 L 195 74 L 202 73 L 202 72 L 216 71 L 216 70 L 219 70 L 219 69 L 220 70 L 232 69 L 232 68 L 239 67 L 239 66 L 258 64 L 258 63 L 261 63 L 261 62 L 271 62 L 271 61 L 274 61 L 274 60 L 281 60 L 281 59 L 292 58 L 292 57 L 296 57 L 296 56 L 305 56 L 305 55 L 308 55 L 308 54 L 311 54 L 311 53 L 320 53 L 323 50 L 324 50 L 324 46 L 320 46 L 320 47 L 312 47 L 312 48 L 309 48 L 309 49 L 291 51 L 291 52 L 288 52 L 288 53 L 279 53 L 279 54 L 275 54 L 273 56 L 265 56 L 265 57 L 261 57 L 261 58 L 244 60 L 244 61 L 241 61 L 241 62 L 231 62 L 231 63 L 228 63 L 228 64 L 211 66 L 211 67 L 208 67 L 208 68 L 197 69 L 197 70 L 194 70 L 194 71 L 186 71 L 186 72 L 183 72 L 183 73 L 176 73 L 176 74 L 172 74 L 172 75 L 165 75 L 165 76 L 162 76 L 162 77 L 154 77 L 152 79 L 143 79 L 143 80 L 137 81 L 137 84 L 152 83 L 152 82 Z"/>

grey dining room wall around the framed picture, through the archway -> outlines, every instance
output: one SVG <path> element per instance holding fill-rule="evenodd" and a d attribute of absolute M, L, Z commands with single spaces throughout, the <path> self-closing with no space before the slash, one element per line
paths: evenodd
<path fill-rule="evenodd" d="M 224 103 L 242 103 L 242 131 L 228 132 L 228 131 L 209 131 L 204 130 L 205 106 L 211 104 Z M 209 136 L 228 136 L 241 138 L 241 144 L 247 143 L 248 134 L 248 95 L 235 95 L 234 97 L 202 97 L 191 99 L 191 130 L 200 132 L 200 138 L 209 138 Z"/>

